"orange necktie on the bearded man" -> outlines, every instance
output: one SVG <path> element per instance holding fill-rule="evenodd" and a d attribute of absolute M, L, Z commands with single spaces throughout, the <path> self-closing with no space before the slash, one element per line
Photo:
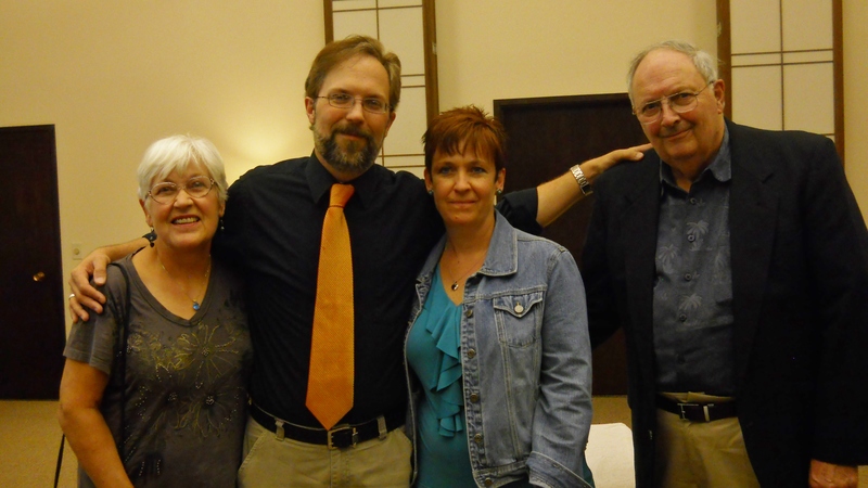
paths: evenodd
<path fill-rule="evenodd" d="M 319 251 L 305 406 L 327 429 L 353 408 L 353 255 L 344 205 L 354 191 L 349 184 L 332 185 Z"/>

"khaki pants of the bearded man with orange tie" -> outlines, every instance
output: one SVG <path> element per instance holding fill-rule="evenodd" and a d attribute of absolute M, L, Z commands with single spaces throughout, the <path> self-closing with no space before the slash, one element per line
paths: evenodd
<path fill-rule="evenodd" d="M 401 487 L 410 484 L 412 446 L 403 428 L 385 439 L 329 449 L 284 438 L 247 418 L 244 462 L 238 486 L 251 487 Z"/>

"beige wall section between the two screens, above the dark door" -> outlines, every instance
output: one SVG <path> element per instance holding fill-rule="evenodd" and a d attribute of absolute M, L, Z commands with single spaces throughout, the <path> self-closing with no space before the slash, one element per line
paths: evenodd
<path fill-rule="evenodd" d="M 437 0 L 441 110 L 625 92 L 646 46 L 679 38 L 716 54 L 716 33 L 714 0 Z"/>

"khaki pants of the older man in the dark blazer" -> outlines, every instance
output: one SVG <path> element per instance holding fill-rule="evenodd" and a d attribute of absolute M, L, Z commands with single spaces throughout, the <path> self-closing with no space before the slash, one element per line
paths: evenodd
<path fill-rule="evenodd" d="M 724 402 L 701 394 L 664 394 L 682 402 Z M 690 422 L 658 409 L 655 486 L 661 488 L 760 487 L 744 449 L 738 418 Z"/>

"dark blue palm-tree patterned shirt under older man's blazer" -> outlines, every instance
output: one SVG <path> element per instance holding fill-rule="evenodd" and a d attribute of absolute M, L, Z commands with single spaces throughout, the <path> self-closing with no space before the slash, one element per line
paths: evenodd
<path fill-rule="evenodd" d="M 729 133 L 689 192 L 661 163 L 654 281 L 660 391 L 735 393 Z"/>

